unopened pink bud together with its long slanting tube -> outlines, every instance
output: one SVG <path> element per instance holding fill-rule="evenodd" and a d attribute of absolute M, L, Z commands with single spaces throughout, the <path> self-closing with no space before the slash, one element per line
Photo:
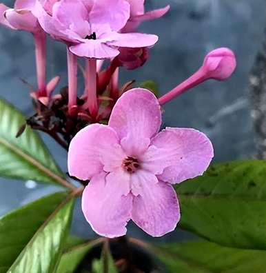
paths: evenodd
<path fill-rule="evenodd" d="M 215 79 L 223 81 L 229 78 L 236 69 L 236 57 L 229 48 L 217 48 L 209 52 L 201 68 L 198 69 L 189 79 L 183 81 L 167 94 L 158 99 L 161 105 L 167 103 L 183 94 L 183 92 L 194 88 L 196 85 L 207 81 L 208 79 Z"/>

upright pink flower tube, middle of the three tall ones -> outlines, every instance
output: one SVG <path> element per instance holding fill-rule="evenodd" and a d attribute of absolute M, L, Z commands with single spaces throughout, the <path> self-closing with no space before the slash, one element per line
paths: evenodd
<path fill-rule="evenodd" d="M 78 63 L 76 55 L 67 49 L 68 54 L 68 111 L 76 105 Z"/>

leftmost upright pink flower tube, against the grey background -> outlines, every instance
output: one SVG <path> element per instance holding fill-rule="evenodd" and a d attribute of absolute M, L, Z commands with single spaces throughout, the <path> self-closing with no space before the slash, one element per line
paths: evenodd
<path fill-rule="evenodd" d="M 34 34 L 35 55 L 38 81 L 38 97 L 46 97 L 46 34 Z"/>

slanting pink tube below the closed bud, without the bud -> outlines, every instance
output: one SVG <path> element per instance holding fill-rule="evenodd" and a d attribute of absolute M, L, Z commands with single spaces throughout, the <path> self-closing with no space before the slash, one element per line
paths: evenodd
<path fill-rule="evenodd" d="M 200 68 L 195 74 L 193 74 L 190 78 L 183 81 L 183 83 L 179 84 L 171 90 L 170 92 L 167 92 L 167 94 L 163 95 L 163 97 L 158 99 L 158 102 L 163 105 L 167 103 L 168 101 L 171 101 L 174 99 L 174 97 L 177 97 L 183 92 L 194 88 L 194 86 L 198 85 L 199 83 L 202 83 L 207 79 L 205 72 L 202 68 Z"/>

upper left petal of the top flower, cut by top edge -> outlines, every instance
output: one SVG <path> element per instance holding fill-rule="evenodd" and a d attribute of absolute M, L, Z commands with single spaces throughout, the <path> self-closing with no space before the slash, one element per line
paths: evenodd
<path fill-rule="evenodd" d="M 79 26 L 85 20 L 88 20 L 89 12 L 81 0 L 61 0 L 54 3 L 52 16 L 57 18 L 64 26 L 74 24 Z"/>

